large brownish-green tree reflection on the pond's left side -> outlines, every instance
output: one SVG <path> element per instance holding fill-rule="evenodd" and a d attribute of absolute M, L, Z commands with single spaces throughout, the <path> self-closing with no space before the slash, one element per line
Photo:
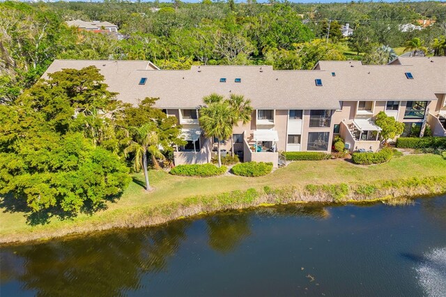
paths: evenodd
<path fill-rule="evenodd" d="M 38 296 L 122 296 L 139 289 L 141 273 L 167 268 L 189 224 L 6 248 L 1 280 L 19 281 Z"/>

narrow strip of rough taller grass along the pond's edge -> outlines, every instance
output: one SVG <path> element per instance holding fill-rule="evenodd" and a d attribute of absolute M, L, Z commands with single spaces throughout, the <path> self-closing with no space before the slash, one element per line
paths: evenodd
<path fill-rule="evenodd" d="M 197 195 L 181 201 L 158 206 L 143 206 L 116 209 L 107 216 L 88 217 L 74 226 L 39 226 L 33 231 L 5 234 L 0 245 L 47 241 L 51 238 L 71 237 L 109 229 L 137 228 L 164 224 L 173 220 L 190 218 L 218 211 L 238 210 L 277 204 L 364 204 L 446 193 L 446 176 L 423 178 L 399 178 L 372 183 L 333 183 L 327 185 L 307 184 L 260 189 L 234 190 L 217 195 Z"/>

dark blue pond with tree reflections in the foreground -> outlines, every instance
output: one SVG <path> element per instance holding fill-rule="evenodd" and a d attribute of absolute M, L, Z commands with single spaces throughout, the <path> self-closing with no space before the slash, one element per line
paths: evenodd
<path fill-rule="evenodd" d="M 1 296 L 445 296 L 446 196 L 274 206 L 1 248 Z"/>

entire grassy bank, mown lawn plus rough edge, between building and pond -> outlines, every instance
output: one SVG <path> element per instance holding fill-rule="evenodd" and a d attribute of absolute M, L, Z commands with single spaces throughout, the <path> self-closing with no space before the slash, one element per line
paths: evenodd
<path fill-rule="evenodd" d="M 191 178 L 151 171 L 155 190 L 144 192 L 134 176 L 124 195 L 92 215 L 31 226 L 27 213 L 1 209 L 0 243 L 47 239 L 117 227 L 141 227 L 200 213 L 269 204 L 360 202 L 446 192 L 446 162 L 440 155 L 406 155 L 374 166 L 343 160 L 298 161 L 257 178 Z"/>

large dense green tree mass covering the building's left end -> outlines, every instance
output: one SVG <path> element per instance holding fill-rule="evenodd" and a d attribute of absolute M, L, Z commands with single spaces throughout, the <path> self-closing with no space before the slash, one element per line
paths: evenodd
<path fill-rule="evenodd" d="M 77 213 L 121 195 L 129 182 L 118 151 L 120 102 L 94 67 L 49 75 L 0 105 L 0 193 L 33 212 Z"/>

